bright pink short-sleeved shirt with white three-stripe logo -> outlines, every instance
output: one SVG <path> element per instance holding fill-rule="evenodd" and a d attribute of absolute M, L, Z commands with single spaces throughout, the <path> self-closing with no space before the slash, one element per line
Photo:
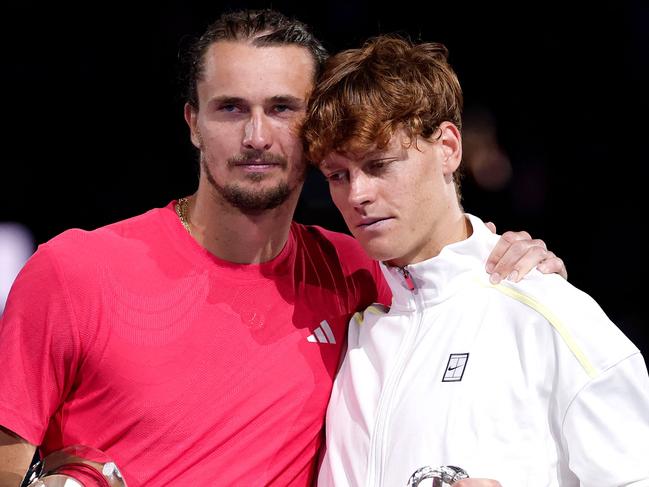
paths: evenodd
<path fill-rule="evenodd" d="M 380 283 L 379 290 L 375 280 Z M 0 323 L 0 424 L 94 446 L 129 487 L 309 485 L 350 315 L 388 303 L 345 235 L 222 261 L 172 204 L 41 245 Z"/>

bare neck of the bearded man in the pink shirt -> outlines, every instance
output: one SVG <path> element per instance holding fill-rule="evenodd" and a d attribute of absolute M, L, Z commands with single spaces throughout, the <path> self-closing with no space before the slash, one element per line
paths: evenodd
<path fill-rule="evenodd" d="M 267 262 L 282 251 L 291 227 L 300 188 L 272 210 L 246 213 L 204 185 L 189 198 L 190 233 L 210 253 L 238 264 Z"/>

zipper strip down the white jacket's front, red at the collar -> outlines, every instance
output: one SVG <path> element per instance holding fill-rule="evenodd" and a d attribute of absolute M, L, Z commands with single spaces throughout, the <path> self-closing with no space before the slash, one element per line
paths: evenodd
<path fill-rule="evenodd" d="M 408 269 L 405 267 L 398 268 L 399 273 L 403 276 L 406 287 L 415 294 L 415 300 L 417 295 L 415 293 L 416 286 L 415 282 L 408 272 Z M 383 466 L 385 464 L 385 430 L 388 424 L 389 415 L 392 409 L 392 403 L 394 402 L 394 395 L 397 390 L 397 386 L 401 382 L 401 377 L 406 369 L 408 359 L 410 358 L 411 351 L 414 348 L 415 338 L 419 333 L 419 328 L 421 327 L 421 322 L 423 319 L 423 308 L 422 312 L 418 313 L 420 307 L 415 306 L 415 316 L 417 317 L 417 325 L 411 327 L 406 332 L 406 336 L 403 339 L 403 344 L 399 349 L 399 360 L 395 365 L 394 372 L 390 375 L 390 378 L 386 382 L 385 390 L 381 394 L 379 399 L 379 406 L 377 408 L 376 414 L 376 423 L 374 427 L 374 434 L 370 440 L 370 454 L 374 457 L 368 462 L 368 473 L 367 473 L 367 487 L 381 486 L 383 485 Z M 406 479 L 407 480 L 407 479 Z M 405 482 L 405 480 L 404 480 Z"/>

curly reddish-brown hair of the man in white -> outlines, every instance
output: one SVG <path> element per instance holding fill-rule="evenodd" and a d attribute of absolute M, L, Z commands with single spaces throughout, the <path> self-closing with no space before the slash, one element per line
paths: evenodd
<path fill-rule="evenodd" d="M 319 165 L 333 151 L 382 149 L 400 127 L 411 141 L 443 121 L 461 129 L 462 89 L 447 57 L 443 44 L 397 36 L 331 57 L 302 127 L 307 158 Z"/>

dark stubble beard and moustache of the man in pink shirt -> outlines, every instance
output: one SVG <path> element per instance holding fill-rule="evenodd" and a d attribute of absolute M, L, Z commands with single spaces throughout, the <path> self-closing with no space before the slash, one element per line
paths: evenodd
<path fill-rule="evenodd" d="M 238 183 L 227 183 L 224 185 L 219 184 L 209 170 L 208 156 L 205 152 L 201 151 L 200 162 L 202 170 L 204 171 L 207 181 L 216 190 L 216 192 L 230 205 L 241 210 L 244 213 L 259 213 L 261 211 L 272 210 L 282 205 L 297 189 L 299 183 L 304 181 L 306 176 L 306 164 L 299 175 L 298 185 L 291 188 L 286 181 L 280 181 L 275 186 L 270 188 L 247 188 Z M 286 167 L 288 162 L 284 157 L 274 154 L 263 153 L 259 154 L 257 151 L 249 151 L 237 156 L 231 157 L 227 160 L 228 167 L 233 167 L 237 163 L 246 159 L 261 159 L 272 164 L 280 164 Z M 258 183 L 266 178 L 266 175 L 260 172 L 251 172 L 246 175 L 248 181 Z"/>

